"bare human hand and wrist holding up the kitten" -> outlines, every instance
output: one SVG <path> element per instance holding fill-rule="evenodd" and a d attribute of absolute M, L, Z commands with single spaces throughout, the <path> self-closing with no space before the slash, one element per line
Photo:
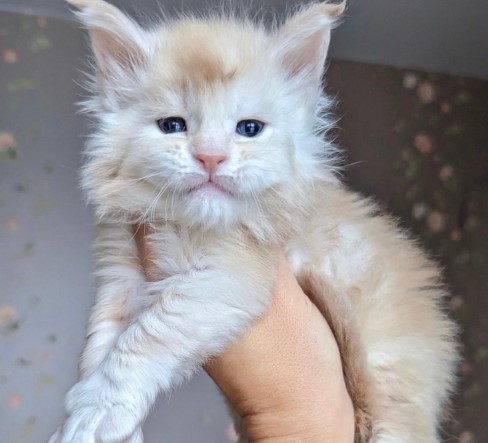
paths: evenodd
<path fill-rule="evenodd" d="M 146 231 L 147 232 L 147 231 Z M 148 279 L 144 230 L 136 241 Z M 204 366 L 252 443 L 352 443 L 354 412 L 337 343 L 284 256 L 267 312 Z"/>

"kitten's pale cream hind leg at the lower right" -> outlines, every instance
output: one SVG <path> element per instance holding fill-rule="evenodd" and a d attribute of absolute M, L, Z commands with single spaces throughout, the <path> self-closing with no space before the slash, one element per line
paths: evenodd
<path fill-rule="evenodd" d="M 441 296 L 433 285 L 412 285 L 394 304 L 363 310 L 377 443 L 441 441 L 439 418 L 457 361 L 455 328 L 439 309 Z"/>

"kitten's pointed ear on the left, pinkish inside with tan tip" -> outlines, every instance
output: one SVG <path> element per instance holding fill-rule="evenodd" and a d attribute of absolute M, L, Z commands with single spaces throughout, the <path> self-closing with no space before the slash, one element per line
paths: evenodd
<path fill-rule="evenodd" d="M 90 33 L 93 53 L 104 77 L 119 77 L 144 64 L 144 31 L 122 11 L 103 0 L 66 0 Z"/>

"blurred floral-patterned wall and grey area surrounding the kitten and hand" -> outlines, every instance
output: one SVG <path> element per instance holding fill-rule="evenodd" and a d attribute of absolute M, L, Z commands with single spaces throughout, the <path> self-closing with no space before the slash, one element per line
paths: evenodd
<path fill-rule="evenodd" d="M 114 1 L 139 21 L 154 0 Z M 168 11 L 205 10 L 199 0 Z M 269 0 L 282 11 L 297 2 Z M 488 442 L 488 2 L 351 0 L 334 32 L 344 178 L 374 196 L 443 265 L 462 327 L 459 389 L 443 440 Z M 60 424 L 93 302 L 92 215 L 78 189 L 88 128 L 87 40 L 61 0 L 0 0 L 0 442 Z M 204 374 L 161 399 L 147 443 L 234 441 Z M 420 442 L 419 442 L 420 443 Z"/>

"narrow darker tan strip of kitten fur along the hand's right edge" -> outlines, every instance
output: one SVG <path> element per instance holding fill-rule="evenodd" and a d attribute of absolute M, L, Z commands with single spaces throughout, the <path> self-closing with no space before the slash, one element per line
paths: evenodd
<path fill-rule="evenodd" d="M 346 387 L 354 405 L 356 443 L 375 441 L 372 437 L 372 384 L 366 353 L 348 298 L 327 284 L 320 271 L 306 266 L 297 277 L 300 286 L 327 320 L 339 346 Z"/>

